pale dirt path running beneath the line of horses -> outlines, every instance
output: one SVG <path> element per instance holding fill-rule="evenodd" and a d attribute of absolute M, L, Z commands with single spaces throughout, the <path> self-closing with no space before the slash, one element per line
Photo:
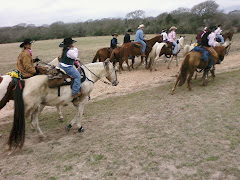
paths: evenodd
<path fill-rule="evenodd" d="M 232 71 L 240 68 L 240 53 L 231 52 L 230 55 L 226 56 L 224 61 L 216 66 L 216 73 Z M 180 59 L 180 64 L 181 64 Z M 136 64 L 139 63 L 139 59 L 136 60 Z M 144 69 L 142 65 L 139 69 L 134 69 L 131 72 L 124 71 L 122 74 L 118 74 L 119 85 L 116 87 L 108 86 L 102 82 L 97 82 L 95 88 L 91 94 L 92 100 L 103 99 L 109 96 L 118 96 L 135 92 L 141 89 L 153 88 L 159 84 L 174 81 L 175 76 L 179 70 L 179 67 L 175 66 L 175 61 L 171 64 L 171 69 L 167 69 L 167 64 L 162 59 L 157 62 L 158 71 L 150 72 Z M 125 67 L 126 69 L 126 67 Z M 217 77 L 216 77 L 217 78 Z M 48 107 L 47 110 L 54 109 Z M 9 102 L 0 113 L 0 125 L 7 123 L 4 117 L 13 114 L 13 102 Z"/>

